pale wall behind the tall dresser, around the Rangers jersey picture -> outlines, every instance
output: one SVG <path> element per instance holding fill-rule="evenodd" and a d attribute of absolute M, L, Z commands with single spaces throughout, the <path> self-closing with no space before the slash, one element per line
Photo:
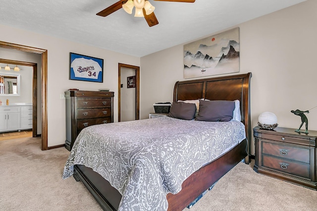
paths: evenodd
<path fill-rule="evenodd" d="M 114 121 L 118 119 L 117 83 L 118 63 L 140 66 L 140 58 L 122 53 L 70 42 L 46 35 L 0 25 L 6 33 L 0 34 L 0 41 L 22 44 L 48 50 L 48 146 L 65 143 L 65 99 L 60 94 L 69 88 L 98 90 L 110 88 L 114 91 Z M 83 82 L 69 80 L 69 52 L 104 59 L 104 82 Z M 13 59 L 14 60 L 14 59 Z M 40 67 L 38 67 L 40 71 Z M 41 106 L 41 104 L 39 104 Z"/>

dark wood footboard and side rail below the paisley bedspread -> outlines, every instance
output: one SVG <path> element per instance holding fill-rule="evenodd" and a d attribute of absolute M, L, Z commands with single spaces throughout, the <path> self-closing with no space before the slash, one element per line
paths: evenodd
<path fill-rule="evenodd" d="M 247 156 L 247 140 L 210 164 L 191 174 L 177 194 L 167 194 L 168 211 L 182 211 Z M 82 165 L 75 165 L 74 177 L 80 179 L 105 211 L 116 211 L 121 194 L 100 174 Z"/>

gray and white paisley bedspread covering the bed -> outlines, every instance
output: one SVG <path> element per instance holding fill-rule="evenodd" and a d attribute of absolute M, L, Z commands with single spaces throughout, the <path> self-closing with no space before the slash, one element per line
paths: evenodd
<path fill-rule="evenodd" d="M 188 176 L 245 138 L 236 121 L 158 117 L 95 125 L 78 135 L 63 178 L 84 165 L 119 191 L 119 211 L 165 211 L 167 193 L 178 193 Z"/>

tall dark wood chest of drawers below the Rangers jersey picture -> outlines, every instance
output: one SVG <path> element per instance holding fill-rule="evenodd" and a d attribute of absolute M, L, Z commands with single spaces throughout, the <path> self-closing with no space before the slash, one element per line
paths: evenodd
<path fill-rule="evenodd" d="M 113 96 L 111 91 L 65 91 L 67 150 L 83 128 L 113 123 Z"/>

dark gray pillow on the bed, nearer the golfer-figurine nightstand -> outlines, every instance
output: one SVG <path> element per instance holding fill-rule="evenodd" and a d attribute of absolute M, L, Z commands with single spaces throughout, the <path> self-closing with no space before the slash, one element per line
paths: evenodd
<path fill-rule="evenodd" d="M 232 120 L 234 101 L 199 100 L 199 112 L 196 120 L 207 122 L 228 122 Z"/>

